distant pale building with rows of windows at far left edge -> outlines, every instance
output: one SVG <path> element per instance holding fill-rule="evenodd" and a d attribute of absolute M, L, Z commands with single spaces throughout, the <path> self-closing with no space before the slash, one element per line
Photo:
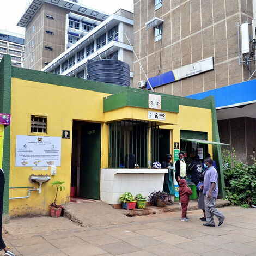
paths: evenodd
<path fill-rule="evenodd" d="M 13 65 L 23 67 L 24 38 L 25 35 L 0 30 L 0 60 L 9 54 Z"/>

